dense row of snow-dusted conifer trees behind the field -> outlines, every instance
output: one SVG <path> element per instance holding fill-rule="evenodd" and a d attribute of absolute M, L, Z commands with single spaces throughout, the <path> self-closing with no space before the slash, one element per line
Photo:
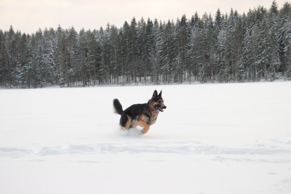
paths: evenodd
<path fill-rule="evenodd" d="M 0 86 L 274 81 L 291 78 L 291 3 L 214 18 L 139 21 L 99 30 L 0 30 Z"/>

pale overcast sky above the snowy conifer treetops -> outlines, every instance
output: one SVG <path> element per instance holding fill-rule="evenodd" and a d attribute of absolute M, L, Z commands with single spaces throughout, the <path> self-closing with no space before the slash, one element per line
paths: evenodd
<path fill-rule="evenodd" d="M 247 13 L 262 5 L 269 9 L 273 0 L 0 0 L 0 29 L 32 33 L 39 28 L 56 29 L 81 28 L 99 29 L 106 24 L 114 24 L 117 28 L 125 21 L 130 23 L 133 16 L 140 20 L 149 17 L 167 21 L 183 14 L 190 18 L 197 11 L 201 17 L 205 12 L 214 17 L 218 8 L 221 13 L 229 13 L 230 9 L 240 14 Z M 276 0 L 278 8 L 288 0 Z M 290 2 L 290 1 L 288 1 Z"/>

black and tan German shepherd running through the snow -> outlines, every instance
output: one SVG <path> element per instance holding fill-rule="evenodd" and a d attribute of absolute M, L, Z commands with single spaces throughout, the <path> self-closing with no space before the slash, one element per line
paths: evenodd
<path fill-rule="evenodd" d="M 113 106 L 115 113 L 121 115 L 119 123 L 124 129 L 141 126 L 143 127 L 142 134 L 147 133 L 149 126 L 156 122 L 159 113 L 167 108 L 163 104 L 162 90 L 159 95 L 157 90 L 155 90 L 152 98 L 147 103 L 133 104 L 124 111 L 118 99 L 113 100 Z"/>

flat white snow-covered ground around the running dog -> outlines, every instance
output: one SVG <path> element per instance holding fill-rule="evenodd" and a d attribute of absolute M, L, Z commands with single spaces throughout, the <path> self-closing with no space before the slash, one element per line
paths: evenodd
<path fill-rule="evenodd" d="M 162 90 L 146 135 L 124 109 Z M 291 194 L 291 82 L 0 90 L 0 194 Z"/>

